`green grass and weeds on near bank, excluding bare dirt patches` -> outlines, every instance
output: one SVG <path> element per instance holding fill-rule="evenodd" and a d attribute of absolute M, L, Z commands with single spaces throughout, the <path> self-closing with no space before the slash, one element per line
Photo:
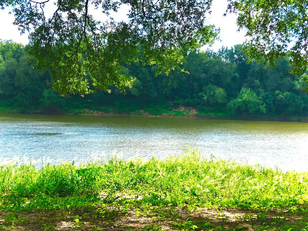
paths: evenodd
<path fill-rule="evenodd" d="M 112 157 L 107 162 L 45 164 L 42 168 L 31 163 L 8 164 L 0 166 L 0 182 L 0 215 L 1 211 L 6 216 L 15 214 L 9 217 L 13 221 L 6 221 L 11 225 L 22 220 L 18 218 L 22 211 L 75 211 L 73 218 L 78 224 L 83 219 L 82 214 L 88 216 L 89 211 L 94 211 L 91 213 L 93 219 L 97 214 L 103 214 L 101 218 L 109 220 L 110 216 L 115 220 L 116 214 L 134 211 L 141 214 L 135 216 L 158 214 L 156 221 L 173 217 L 174 222 L 169 222 L 172 229 L 222 230 L 218 226 L 214 229 L 205 220 L 186 220 L 184 223 L 176 220 L 179 217 L 177 209 L 209 208 L 250 211 L 256 214 L 255 217 L 249 217 L 249 212 L 241 219 L 251 222 L 252 226 L 261 219 L 260 231 L 290 228 L 306 231 L 305 226 L 308 227 L 308 172 L 282 172 L 259 165 L 205 159 L 197 150 L 187 150 L 164 160 Z M 295 226 L 293 222 L 279 221 L 280 228 L 277 228 L 278 221 L 266 223 L 262 220 L 270 211 L 282 211 L 291 216 L 301 213 L 302 218 Z M 159 229 L 150 226 L 145 230 Z"/>

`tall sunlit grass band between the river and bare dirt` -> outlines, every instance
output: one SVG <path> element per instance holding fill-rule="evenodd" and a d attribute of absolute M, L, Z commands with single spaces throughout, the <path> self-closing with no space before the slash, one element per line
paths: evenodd
<path fill-rule="evenodd" d="M 65 200 L 78 197 L 79 202 L 93 201 L 102 194 L 106 201 L 139 197 L 144 203 L 190 209 L 296 210 L 308 202 L 308 172 L 281 172 L 235 161 L 205 159 L 194 150 L 164 160 L 124 161 L 113 157 L 108 162 L 78 166 L 0 166 L 0 194 L 2 210 L 66 207 L 71 202 Z"/>

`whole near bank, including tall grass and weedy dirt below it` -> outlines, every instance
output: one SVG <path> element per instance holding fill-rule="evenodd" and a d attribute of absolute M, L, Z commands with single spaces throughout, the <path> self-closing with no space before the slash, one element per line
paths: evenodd
<path fill-rule="evenodd" d="M 0 167 L 3 230 L 300 230 L 308 172 L 205 158 Z"/>

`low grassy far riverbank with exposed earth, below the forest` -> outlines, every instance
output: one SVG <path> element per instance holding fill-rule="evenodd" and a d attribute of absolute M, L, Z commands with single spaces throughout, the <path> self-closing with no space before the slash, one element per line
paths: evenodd
<path fill-rule="evenodd" d="M 220 112 L 212 108 L 198 110 L 194 107 L 155 108 L 148 107 L 135 111 L 119 111 L 112 108 L 94 109 L 68 109 L 66 111 L 41 111 L 29 109 L 27 111 L 16 108 L 0 107 L 0 112 L 29 113 L 29 114 L 65 114 L 65 115 L 97 115 L 97 116 L 135 116 L 135 117 L 167 117 L 167 118 L 197 118 L 197 119 L 226 119 L 226 120 L 252 120 L 252 121 L 294 121 L 308 122 L 308 116 L 283 116 L 283 115 L 236 115 L 229 112 Z"/>

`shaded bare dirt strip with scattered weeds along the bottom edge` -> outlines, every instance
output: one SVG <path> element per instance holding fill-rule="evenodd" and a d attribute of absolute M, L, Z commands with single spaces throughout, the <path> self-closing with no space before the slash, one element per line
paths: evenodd
<path fill-rule="evenodd" d="M 104 213 L 104 211 L 107 211 Z M 100 212 L 100 213 L 99 213 Z M 16 217 L 10 220 L 10 216 Z M 100 215 L 97 215 L 100 214 Z M 168 214 L 168 216 L 164 216 Z M 257 214 L 249 210 L 209 210 L 200 209 L 196 212 L 187 212 L 185 209 L 172 211 L 153 212 L 150 214 L 136 214 L 136 210 L 128 210 L 125 213 L 108 208 L 92 211 L 86 210 L 38 210 L 22 211 L 18 213 L 1 212 L 0 230 L 193 230 L 192 225 L 218 229 L 255 230 L 261 227 L 263 222 L 271 223 L 279 218 L 277 213 L 267 213 L 262 221 L 258 221 Z M 284 221 L 296 222 L 300 217 L 285 216 Z M 10 220 L 10 221 L 8 221 Z M 208 223 L 209 222 L 209 223 Z M 14 223 L 14 225 L 12 225 Z M 202 226 L 203 225 L 203 226 Z M 208 225 L 208 226 L 207 226 Z M 6 227 L 4 227 L 6 226 Z"/>

